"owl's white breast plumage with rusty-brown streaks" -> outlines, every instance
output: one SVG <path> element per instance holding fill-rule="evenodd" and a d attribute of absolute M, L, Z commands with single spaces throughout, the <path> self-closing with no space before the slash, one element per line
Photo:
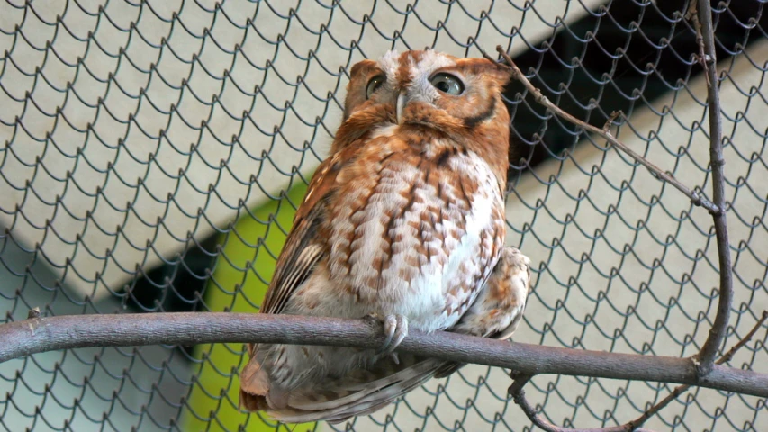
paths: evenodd
<path fill-rule="evenodd" d="M 339 175 L 348 182 L 339 184 L 329 209 L 327 270 L 296 296 L 312 311 L 294 306 L 348 318 L 402 314 L 412 329 L 447 329 L 474 302 L 501 253 L 498 181 L 471 152 L 440 164 L 393 153 L 365 165 L 373 168 Z"/>

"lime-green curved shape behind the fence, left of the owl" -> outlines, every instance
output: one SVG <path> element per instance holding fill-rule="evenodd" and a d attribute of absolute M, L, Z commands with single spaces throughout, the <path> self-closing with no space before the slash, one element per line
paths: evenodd
<path fill-rule="evenodd" d="M 221 253 L 212 269 L 212 280 L 203 293 L 210 311 L 256 312 L 267 293 L 276 259 L 285 244 L 302 202 L 306 184 L 299 184 L 281 200 L 248 211 L 234 229 L 221 235 Z M 187 401 L 183 430 L 189 431 L 306 431 L 316 423 L 284 425 L 258 413 L 238 410 L 239 371 L 248 361 L 244 344 L 214 344 L 195 347 L 197 381 Z M 240 426 L 243 429 L 239 429 Z"/>

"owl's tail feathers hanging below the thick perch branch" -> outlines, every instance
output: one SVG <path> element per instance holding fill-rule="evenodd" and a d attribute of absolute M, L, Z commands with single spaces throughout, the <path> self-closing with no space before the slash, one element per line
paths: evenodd
<path fill-rule="evenodd" d="M 247 410 L 265 410 L 274 419 L 286 423 L 319 420 L 339 423 L 384 408 L 403 394 L 426 383 L 446 363 L 415 356 L 400 357 L 399 365 L 386 359 L 378 362 L 373 370 L 356 369 L 340 378 L 295 389 L 281 395 L 281 402 L 286 403 L 279 408 L 269 403 L 271 398 L 268 388 L 263 392 L 263 386 L 251 385 L 258 383 L 258 379 L 248 380 L 248 385 L 240 391 L 240 405 Z M 248 366 L 243 372 L 247 370 Z"/>

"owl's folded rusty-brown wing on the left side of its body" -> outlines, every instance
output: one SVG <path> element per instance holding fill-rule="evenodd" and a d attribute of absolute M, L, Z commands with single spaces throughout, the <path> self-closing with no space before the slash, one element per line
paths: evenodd
<path fill-rule="evenodd" d="M 338 155 L 337 155 L 338 156 Z M 277 266 L 262 313 L 280 313 L 296 288 L 312 273 L 312 267 L 326 253 L 325 243 L 318 238 L 318 228 L 326 217 L 326 198 L 331 193 L 338 173 L 338 157 L 330 157 L 318 166 L 312 176 L 304 201 L 296 211 L 294 227 L 277 258 Z"/>

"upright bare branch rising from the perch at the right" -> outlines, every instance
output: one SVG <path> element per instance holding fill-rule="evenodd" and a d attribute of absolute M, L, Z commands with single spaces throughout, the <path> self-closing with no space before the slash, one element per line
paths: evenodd
<path fill-rule="evenodd" d="M 692 1 L 692 0 L 691 0 Z M 712 9 L 709 0 L 699 0 L 698 15 L 700 25 L 696 27 L 697 40 L 700 40 L 700 57 L 707 76 L 707 109 L 709 111 L 709 166 L 712 169 L 712 200 L 718 207 L 711 212 L 715 225 L 715 238 L 718 242 L 718 267 L 720 287 L 718 313 L 709 336 L 701 347 L 697 359 L 699 374 L 709 374 L 715 363 L 718 349 L 726 338 L 728 318 L 733 302 L 733 269 L 731 268 L 730 248 L 728 244 L 728 225 L 726 220 L 726 179 L 723 166 L 723 124 L 720 115 L 720 95 L 718 91 L 717 60 L 715 58 L 715 30 L 712 25 Z M 695 15 L 694 15 L 695 16 Z"/>

